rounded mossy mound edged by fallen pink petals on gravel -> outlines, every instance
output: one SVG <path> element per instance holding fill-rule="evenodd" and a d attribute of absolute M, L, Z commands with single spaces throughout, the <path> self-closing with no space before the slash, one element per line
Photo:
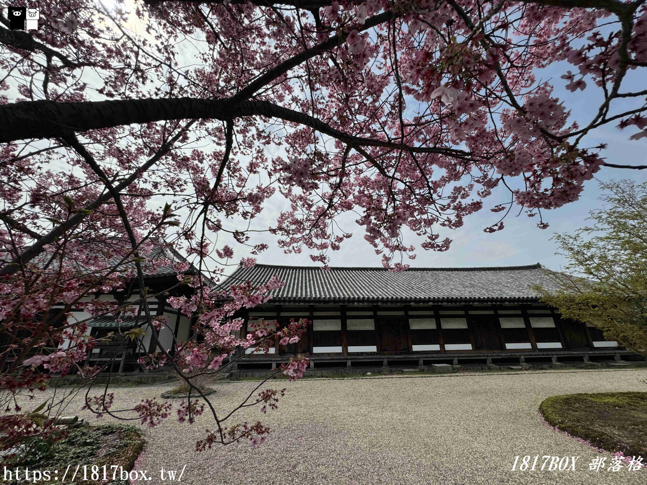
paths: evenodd
<path fill-rule="evenodd" d="M 647 456 L 647 393 L 553 396 L 539 406 L 551 426 L 625 456 Z"/>

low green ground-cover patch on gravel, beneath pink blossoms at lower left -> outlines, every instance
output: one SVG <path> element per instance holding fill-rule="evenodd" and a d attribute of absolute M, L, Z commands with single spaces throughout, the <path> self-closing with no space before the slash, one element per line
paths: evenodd
<path fill-rule="evenodd" d="M 120 480 L 115 480 L 115 482 L 111 480 L 114 468 L 111 469 L 110 466 L 122 466 L 124 470 L 130 471 L 144 449 L 144 444 L 146 441 L 142 438 L 142 431 L 135 426 L 116 423 L 100 424 L 88 428 L 72 429 L 67 438 L 54 443 L 47 455 L 40 457 L 38 461 L 26 460 L 14 467 L 29 466 L 30 469 L 37 470 L 58 469 L 60 480 L 68 465 L 71 465 L 70 473 L 76 469 L 77 465 L 81 465 L 78 473 L 82 473 L 83 465 L 87 465 L 88 480 L 78 480 L 78 477 L 83 478 L 83 475 L 77 475 L 76 481 L 79 484 L 126 484 L 127 482 Z M 109 479 L 107 481 L 91 480 L 93 465 L 100 468 L 100 473 L 103 473 L 102 467 L 105 465 Z M 103 479 L 103 475 L 100 479 Z"/>

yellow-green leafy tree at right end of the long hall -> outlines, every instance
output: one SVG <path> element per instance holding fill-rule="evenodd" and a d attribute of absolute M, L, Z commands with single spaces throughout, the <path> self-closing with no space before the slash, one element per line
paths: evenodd
<path fill-rule="evenodd" d="M 549 271 L 558 290 L 534 286 L 562 316 L 591 323 L 604 337 L 647 354 L 647 183 L 602 183 L 602 209 L 590 226 L 555 234 L 569 259 L 564 272 Z"/>

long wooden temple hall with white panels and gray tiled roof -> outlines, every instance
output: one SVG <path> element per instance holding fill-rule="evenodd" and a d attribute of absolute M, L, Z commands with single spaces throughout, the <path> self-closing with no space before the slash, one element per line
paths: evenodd
<path fill-rule="evenodd" d="M 237 369 L 274 369 L 296 352 L 311 367 L 382 367 L 449 363 L 588 362 L 640 356 L 607 341 L 602 331 L 561 318 L 530 286 L 554 289 L 540 264 L 485 268 L 331 268 L 239 266 L 222 283 L 285 286 L 265 305 L 241 310 L 243 334 L 263 318 L 283 326 L 311 321 L 300 342 L 276 344 L 267 355 L 247 349 Z"/>

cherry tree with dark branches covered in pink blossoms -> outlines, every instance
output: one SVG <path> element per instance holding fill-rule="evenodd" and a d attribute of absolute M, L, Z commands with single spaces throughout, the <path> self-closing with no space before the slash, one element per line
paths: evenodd
<path fill-rule="evenodd" d="M 542 210 L 578 199 L 602 167 L 647 168 L 608 164 L 605 144 L 585 146 L 607 124 L 647 138 L 647 90 L 627 87 L 647 67 L 645 0 L 28 5 L 40 9 L 38 30 L 12 31 L 0 18 L 0 388 L 10 396 L 42 388 L 50 372 L 100 370 L 82 365 L 96 342 L 87 322 L 67 323 L 71 308 L 137 311 L 144 325 L 162 325 L 144 285 L 167 263 L 147 257 L 152 241 L 177 246 L 197 268 L 177 265 L 193 296 L 170 301 L 197 316 L 203 339 L 178 342 L 174 355 L 156 341 L 142 363 L 190 382 L 185 371 L 221 372 L 236 349 L 274 338 L 265 321 L 234 337 L 232 316 L 280 281 L 224 293 L 212 285 L 245 246 L 252 256 L 242 264 L 255 263 L 267 248 L 259 231 L 325 269 L 328 251 L 351 237 L 335 218 L 355 211 L 382 264 L 400 271 L 415 257 L 404 228 L 423 249 L 445 251 L 441 228 L 460 227 L 494 190 L 510 201 L 489 207 L 503 217 L 486 232 L 503 229 L 513 206 L 545 228 Z M 548 68 L 561 78 L 543 80 Z M 574 120 L 551 82 L 598 96 L 597 112 Z M 259 227 L 272 196 L 285 210 Z M 132 288 L 139 299 L 123 307 L 84 301 Z M 292 342 L 302 330 L 292 323 L 279 337 Z M 297 356 L 282 371 L 298 377 L 306 365 Z M 255 402 L 266 411 L 278 394 Z M 267 437 L 260 422 L 224 426 L 200 397 L 206 408 L 189 400 L 177 410 L 188 422 L 205 409 L 214 416 L 198 449 Z M 86 405 L 149 426 L 170 415 L 152 398 L 116 412 L 107 391 L 88 393 Z M 3 426 L 36 433 L 25 416 L 16 410 Z"/>

